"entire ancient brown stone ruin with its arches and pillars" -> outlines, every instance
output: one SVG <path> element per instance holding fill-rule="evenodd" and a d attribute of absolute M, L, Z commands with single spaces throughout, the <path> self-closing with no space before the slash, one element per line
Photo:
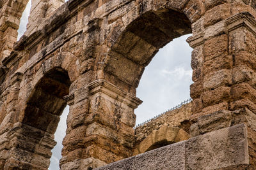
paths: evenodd
<path fill-rule="evenodd" d="M 27 3 L 0 0 L 0 169 L 47 169 L 67 104 L 61 169 L 256 169 L 255 0 L 33 0 L 17 41 Z M 135 136 L 145 66 L 189 33 L 193 101 Z"/>

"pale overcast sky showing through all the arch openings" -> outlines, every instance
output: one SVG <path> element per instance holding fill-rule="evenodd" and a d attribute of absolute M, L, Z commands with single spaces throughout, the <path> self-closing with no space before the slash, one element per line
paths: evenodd
<path fill-rule="evenodd" d="M 18 39 L 26 31 L 30 8 L 31 0 L 21 18 Z M 190 35 L 174 39 L 164 46 L 146 67 L 137 89 L 137 97 L 143 103 L 135 110 L 136 124 L 140 124 L 189 99 L 189 85 L 192 83 L 190 66 L 192 48 L 186 43 L 188 36 Z M 63 147 L 61 143 L 67 129 L 67 115 L 68 106 L 61 115 L 55 133 L 57 145 L 52 150 L 50 170 L 59 169 Z"/>

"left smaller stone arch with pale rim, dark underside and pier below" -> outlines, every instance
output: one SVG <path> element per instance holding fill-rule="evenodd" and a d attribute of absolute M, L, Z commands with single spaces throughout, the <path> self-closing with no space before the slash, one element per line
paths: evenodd
<path fill-rule="evenodd" d="M 17 166 L 24 169 L 48 169 L 51 150 L 56 145 L 54 132 L 68 102 L 65 96 L 72 93 L 70 86 L 78 76 L 77 63 L 77 57 L 71 53 L 58 53 L 39 63 L 40 68 L 35 78 L 24 88 L 28 90 L 29 96 L 21 101 L 24 108 L 18 115 L 19 122 L 14 125 L 15 133 L 20 138 L 17 141 L 11 140 L 13 150 L 9 153 L 13 155 L 12 152 L 19 152 L 26 157 Z M 14 158 L 18 160 L 18 157 Z M 11 156 L 8 158 L 6 167 L 15 167 L 12 159 Z"/>

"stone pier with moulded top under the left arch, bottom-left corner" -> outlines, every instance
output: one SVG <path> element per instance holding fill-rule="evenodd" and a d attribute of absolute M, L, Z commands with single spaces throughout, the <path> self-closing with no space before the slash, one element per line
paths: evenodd
<path fill-rule="evenodd" d="M 48 169 L 51 150 L 56 145 L 53 134 L 18 122 L 6 139 L 9 145 L 4 169 Z"/>

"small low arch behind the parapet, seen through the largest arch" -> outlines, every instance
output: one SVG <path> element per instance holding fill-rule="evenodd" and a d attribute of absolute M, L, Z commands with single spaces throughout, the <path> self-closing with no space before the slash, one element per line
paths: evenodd
<path fill-rule="evenodd" d="M 160 129 L 154 130 L 147 138 L 141 141 L 140 145 L 135 148 L 133 155 L 188 139 L 189 134 L 183 129 L 164 124 Z"/>

